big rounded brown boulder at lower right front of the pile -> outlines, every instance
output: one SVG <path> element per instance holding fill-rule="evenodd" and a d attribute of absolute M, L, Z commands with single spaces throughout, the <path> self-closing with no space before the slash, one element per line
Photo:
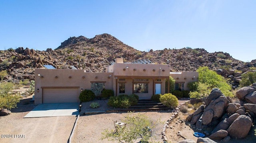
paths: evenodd
<path fill-rule="evenodd" d="M 235 139 L 244 139 L 252 126 L 252 119 L 245 115 L 240 115 L 227 129 L 228 135 Z"/>

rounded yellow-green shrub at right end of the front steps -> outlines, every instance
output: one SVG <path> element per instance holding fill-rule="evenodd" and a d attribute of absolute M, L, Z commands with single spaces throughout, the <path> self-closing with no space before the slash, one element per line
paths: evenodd
<path fill-rule="evenodd" d="M 178 106 L 178 98 L 170 93 L 160 96 L 160 102 L 170 108 L 176 108 Z"/>

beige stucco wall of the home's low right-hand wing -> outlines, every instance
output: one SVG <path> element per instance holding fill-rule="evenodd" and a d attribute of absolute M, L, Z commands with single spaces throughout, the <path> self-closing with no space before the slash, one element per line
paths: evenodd
<path fill-rule="evenodd" d="M 184 83 L 184 90 L 189 90 L 188 83 L 198 81 L 198 72 L 182 71 L 170 72 L 170 76 L 175 79 L 176 83 Z"/>

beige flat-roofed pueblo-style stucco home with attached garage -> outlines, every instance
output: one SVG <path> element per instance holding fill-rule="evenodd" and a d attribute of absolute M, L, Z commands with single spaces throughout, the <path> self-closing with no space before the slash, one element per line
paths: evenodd
<path fill-rule="evenodd" d="M 124 63 L 122 58 L 112 62 L 106 72 L 36 69 L 34 103 L 80 102 L 82 90 L 92 90 L 97 96 L 104 88 L 113 90 L 115 96 L 136 94 L 140 99 L 150 99 L 154 94 L 169 91 L 165 82 L 169 76 L 176 80 L 175 90 L 189 90 L 187 84 L 198 80 L 198 72 L 170 72 L 168 65 L 149 60 Z"/>

